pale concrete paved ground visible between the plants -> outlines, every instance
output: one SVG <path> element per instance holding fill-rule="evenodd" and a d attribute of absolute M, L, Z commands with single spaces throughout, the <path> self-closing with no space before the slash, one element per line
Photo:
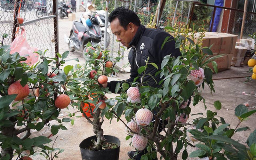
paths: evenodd
<path fill-rule="evenodd" d="M 76 17 L 79 17 L 79 13 L 76 13 Z M 60 53 L 63 53 L 68 50 L 68 46 L 64 41 L 65 35 L 69 35 L 69 31 L 71 29 L 72 21 L 68 21 L 67 19 L 59 20 L 59 38 L 60 38 Z M 84 59 L 82 53 L 74 52 L 70 53 L 69 58 L 78 58 L 80 62 L 70 61 L 67 62 L 65 65 L 71 64 L 75 65 L 77 63 L 83 64 Z M 125 57 L 124 60 L 127 60 Z M 129 69 L 128 69 L 129 70 Z M 223 77 L 237 77 L 237 76 L 245 76 L 248 75 L 247 73 L 248 67 L 244 68 L 235 68 L 232 67 L 230 70 L 220 72 L 215 74 L 213 78 L 223 78 Z M 129 77 L 129 73 L 127 74 L 117 74 L 117 77 L 109 77 L 109 80 L 114 79 L 126 79 Z M 234 115 L 234 109 L 238 104 L 244 104 L 248 102 L 251 106 L 249 110 L 256 106 L 256 86 L 255 81 L 244 83 L 245 78 L 237 78 L 237 79 L 226 79 L 226 80 L 216 80 L 215 83 L 215 90 L 216 92 L 213 95 L 210 94 L 210 90 L 208 87 L 205 87 L 202 94 L 206 100 L 206 104 L 208 109 L 215 110 L 213 107 L 213 102 L 215 100 L 220 100 L 222 103 L 222 109 L 218 112 L 218 116 L 224 117 L 227 123 L 231 124 L 231 127 L 235 127 L 237 123 L 237 118 Z M 242 92 L 246 92 L 247 95 L 242 94 Z M 108 97 L 112 98 L 115 97 L 115 94 L 107 95 Z M 195 107 L 191 107 L 192 112 L 191 114 L 203 112 L 204 105 L 200 102 Z M 68 112 L 74 112 L 76 109 L 72 107 L 68 109 L 64 109 L 61 111 L 62 117 L 68 117 Z M 77 113 L 77 116 L 80 116 L 80 113 Z M 196 116 L 190 116 L 189 121 L 192 121 L 193 118 Z M 84 140 L 85 138 L 94 135 L 92 131 L 92 125 L 89 124 L 85 118 L 75 117 L 75 124 L 72 126 L 70 123 L 65 124 L 68 128 L 68 131 L 60 130 L 58 133 L 58 138 L 55 143 L 55 147 L 63 148 L 65 151 L 59 155 L 59 160 L 81 160 L 80 150 L 79 150 L 79 143 Z M 124 118 L 123 118 L 124 119 Z M 255 125 L 256 121 L 256 114 L 251 116 L 250 120 L 241 124 L 241 127 L 248 126 L 252 131 L 256 129 Z M 111 124 L 108 120 L 105 119 L 105 122 L 102 126 L 104 129 L 104 133 L 108 135 L 114 135 L 121 140 L 121 149 L 120 149 L 120 160 L 127 160 L 127 151 L 131 150 L 132 147 L 129 146 L 130 140 L 125 141 L 125 131 L 124 125 L 121 122 L 116 122 L 113 120 Z M 236 140 L 240 140 L 241 142 L 245 142 L 247 137 L 249 136 L 250 132 L 238 132 L 235 134 L 234 138 Z M 53 136 L 51 139 L 54 140 L 56 136 Z M 188 149 L 189 152 L 193 151 L 193 148 Z M 41 160 L 44 159 L 40 156 L 36 156 L 33 159 Z M 181 158 L 179 158 L 181 159 Z"/>

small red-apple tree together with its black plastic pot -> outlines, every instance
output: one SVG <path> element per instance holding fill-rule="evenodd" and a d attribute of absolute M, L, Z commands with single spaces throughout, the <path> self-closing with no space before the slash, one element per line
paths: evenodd
<path fill-rule="evenodd" d="M 95 136 L 83 140 L 79 147 L 82 159 L 118 160 L 120 140 L 114 136 L 104 135 L 101 125 L 108 108 L 114 105 L 114 100 L 105 96 L 108 88 L 107 76 L 117 72 L 114 68 L 120 57 L 109 56 L 109 51 L 101 51 L 98 45 L 87 44 L 84 53 L 85 65 L 76 65 L 68 74 L 68 92 L 75 100 L 71 105 L 76 106 L 83 116 L 93 125 Z M 92 119 L 91 119 L 92 118 Z"/>

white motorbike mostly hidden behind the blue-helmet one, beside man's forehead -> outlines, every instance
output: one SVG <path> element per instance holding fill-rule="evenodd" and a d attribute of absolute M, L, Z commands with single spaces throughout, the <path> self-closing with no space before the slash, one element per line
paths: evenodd
<path fill-rule="evenodd" d="M 100 14 L 100 12 L 91 12 L 93 14 L 93 16 L 95 18 L 97 18 L 97 20 L 99 21 L 99 27 L 100 27 L 100 30 L 101 30 L 101 33 L 102 33 L 102 37 L 101 37 L 101 41 L 99 43 L 100 47 L 101 48 L 104 48 L 104 35 L 105 35 L 105 15 L 103 14 Z M 89 14 L 91 15 L 91 14 Z M 80 21 L 82 24 L 85 24 L 85 21 L 86 21 L 86 18 L 88 15 L 88 12 L 84 13 L 84 15 L 80 15 Z M 108 27 L 109 27 L 110 23 L 108 22 Z M 107 47 L 109 46 L 110 44 L 110 30 L 107 29 L 108 33 L 107 33 Z"/>

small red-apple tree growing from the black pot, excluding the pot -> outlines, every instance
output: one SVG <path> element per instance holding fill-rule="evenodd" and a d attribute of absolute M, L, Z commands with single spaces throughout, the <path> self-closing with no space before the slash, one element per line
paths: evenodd
<path fill-rule="evenodd" d="M 109 55 L 109 51 L 101 51 L 98 45 L 92 47 L 88 43 L 87 48 L 89 48 L 88 51 L 83 53 L 86 63 L 83 66 L 76 65 L 71 72 L 70 76 L 73 79 L 68 83 L 68 91 L 70 94 L 75 93 L 74 97 L 76 97 L 73 98 L 76 102 L 71 105 L 76 106 L 93 125 L 93 132 L 96 134 L 97 140 L 90 149 L 97 151 L 102 150 L 104 142 L 104 132 L 101 128 L 103 117 L 106 111 L 114 105 L 114 101 L 105 96 L 110 91 L 103 85 L 108 82 L 108 75 L 117 72 L 114 66 L 122 57 L 119 54 L 118 57 L 113 58 Z M 87 115 L 91 115 L 93 119 Z"/>

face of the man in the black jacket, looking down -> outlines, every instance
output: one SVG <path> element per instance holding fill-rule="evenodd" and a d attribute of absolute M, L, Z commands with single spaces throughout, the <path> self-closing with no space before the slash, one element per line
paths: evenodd
<path fill-rule="evenodd" d="M 125 30 L 119 23 L 118 18 L 110 23 L 112 33 L 116 35 L 117 41 L 121 42 L 125 47 L 129 48 L 129 43 L 135 35 L 135 28 L 133 23 L 129 23 Z M 134 33 L 135 32 L 135 33 Z"/>

